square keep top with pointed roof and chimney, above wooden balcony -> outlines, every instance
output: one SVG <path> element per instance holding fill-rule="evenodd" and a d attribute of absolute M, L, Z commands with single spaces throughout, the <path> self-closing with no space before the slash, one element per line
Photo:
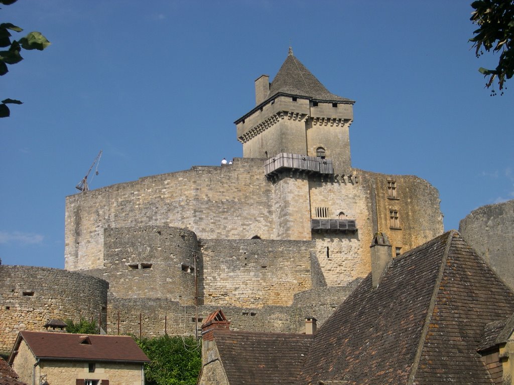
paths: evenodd
<path fill-rule="evenodd" d="M 290 153 L 326 158 L 334 172 L 347 174 L 354 103 L 329 92 L 289 48 L 273 82 L 268 75 L 255 81 L 255 108 L 234 122 L 243 157 Z"/>

